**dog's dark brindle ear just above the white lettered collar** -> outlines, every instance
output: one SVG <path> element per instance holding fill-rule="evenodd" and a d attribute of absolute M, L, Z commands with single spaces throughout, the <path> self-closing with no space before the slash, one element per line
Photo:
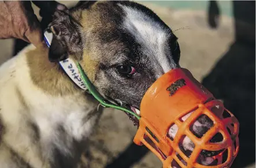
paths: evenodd
<path fill-rule="evenodd" d="M 57 10 L 49 28 L 53 32 L 53 40 L 49 49 L 49 61 L 62 61 L 68 58 L 70 54 L 81 57 L 83 54 L 81 25 L 79 21 L 69 15 L 69 10 Z"/>

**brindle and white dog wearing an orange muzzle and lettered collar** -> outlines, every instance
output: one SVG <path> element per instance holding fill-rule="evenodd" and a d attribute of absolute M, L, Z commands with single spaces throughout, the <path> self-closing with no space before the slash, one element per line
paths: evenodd
<path fill-rule="evenodd" d="M 79 167 L 102 110 L 66 76 L 58 61 L 78 61 L 106 100 L 137 114 L 150 85 L 180 67 L 180 47 L 172 29 L 139 3 L 81 1 L 57 10 L 49 28 L 54 33 L 50 48 L 31 44 L 1 65 L 2 168 Z M 210 127 L 208 120 L 197 122 L 196 133 L 202 133 L 200 126 Z M 175 132 L 171 128 L 170 136 Z M 194 148 L 189 140 L 181 145 Z"/>

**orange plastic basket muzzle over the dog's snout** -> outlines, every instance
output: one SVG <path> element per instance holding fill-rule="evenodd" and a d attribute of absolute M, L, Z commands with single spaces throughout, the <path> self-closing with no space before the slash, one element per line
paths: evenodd
<path fill-rule="evenodd" d="M 155 81 L 140 116 L 133 141 L 146 145 L 164 168 L 230 167 L 238 155 L 238 120 L 187 69 L 170 70 Z"/>

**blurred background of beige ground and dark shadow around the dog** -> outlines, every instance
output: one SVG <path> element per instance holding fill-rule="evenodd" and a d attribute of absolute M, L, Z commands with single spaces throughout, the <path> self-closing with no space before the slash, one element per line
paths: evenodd
<path fill-rule="evenodd" d="M 67 6 L 77 3 L 58 2 Z M 232 167 L 255 167 L 255 1 L 137 2 L 152 9 L 175 31 L 180 65 L 238 118 L 240 152 Z M 50 14 L 45 9 L 39 14 L 39 8 L 33 7 L 39 20 Z M 0 64 L 25 45 L 21 40 L 0 40 Z M 146 147 L 133 144 L 135 133 L 126 114 L 105 109 L 90 138 L 84 167 L 162 167 Z"/>

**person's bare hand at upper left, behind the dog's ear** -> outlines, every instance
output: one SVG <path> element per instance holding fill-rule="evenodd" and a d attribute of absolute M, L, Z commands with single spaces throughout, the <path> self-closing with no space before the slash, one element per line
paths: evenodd
<path fill-rule="evenodd" d="M 30 1 L 0 1 L 0 39 L 17 38 L 39 46 L 42 30 Z"/>

